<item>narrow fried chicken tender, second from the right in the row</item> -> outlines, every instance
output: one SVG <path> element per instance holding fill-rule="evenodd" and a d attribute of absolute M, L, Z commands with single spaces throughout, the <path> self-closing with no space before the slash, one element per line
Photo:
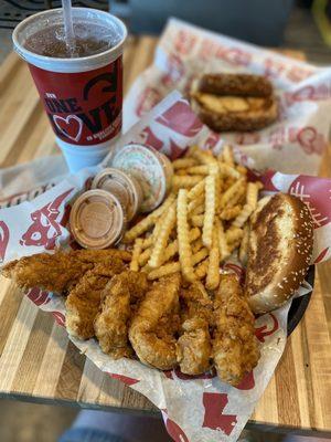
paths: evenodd
<path fill-rule="evenodd" d="M 201 283 L 181 292 L 182 335 L 177 343 L 177 359 L 186 375 L 201 375 L 211 366 L 210 322 L 212 301 Z"/>

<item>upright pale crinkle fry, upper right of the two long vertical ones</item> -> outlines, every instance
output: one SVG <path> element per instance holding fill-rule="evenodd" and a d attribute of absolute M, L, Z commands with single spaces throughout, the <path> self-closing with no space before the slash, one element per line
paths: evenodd
<path fill-rule="evenodd" d="M 215 218 L 216 202 L 216 178 L 214 175 L 209 175 L 205 179 L 205 211 L 202 230 L 202 242 L 207 249 L 212 248 L 213 227 Z"/>

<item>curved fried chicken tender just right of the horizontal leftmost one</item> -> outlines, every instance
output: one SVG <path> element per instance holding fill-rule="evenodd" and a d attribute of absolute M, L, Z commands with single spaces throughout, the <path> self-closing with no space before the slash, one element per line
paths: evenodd
<path fill-rule="evenodd" d="M 105 261 L 84 274 L 65 301 L 65 325 L 71 335 L 81 339 L 89 339 L 95 335 L 94 319 L 100 306 L 102 292 L 108 281 L 124 270 L 120 260 L 116 266 Z"/>

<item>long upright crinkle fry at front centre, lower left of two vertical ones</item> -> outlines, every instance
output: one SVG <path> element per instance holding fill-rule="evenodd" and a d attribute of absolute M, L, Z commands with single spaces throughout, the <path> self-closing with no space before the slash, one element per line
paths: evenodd
<path fill-rule="evenodd" d="M 188 191 L 180 189 L 177 200 L 177 234 L 181 272 L 189 282 L 195 281 L 192 250 L 189 241 Z"/>

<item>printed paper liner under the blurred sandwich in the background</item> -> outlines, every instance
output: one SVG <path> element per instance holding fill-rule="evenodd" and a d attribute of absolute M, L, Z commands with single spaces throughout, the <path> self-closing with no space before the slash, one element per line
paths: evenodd
<path fill-rule="evenodd" d="M 317 175 L 329 139 L 331 69 L 321 69 L 171 19 L 153 63 L 132 84 L 124 104 L 129 128 L 172 90 L 186 94 L 205 72 L 254 73 L 268 77 L 279 102 L 278 120 L 252 133 L 222 134 L 256 160 L 284 173 Z"/>

